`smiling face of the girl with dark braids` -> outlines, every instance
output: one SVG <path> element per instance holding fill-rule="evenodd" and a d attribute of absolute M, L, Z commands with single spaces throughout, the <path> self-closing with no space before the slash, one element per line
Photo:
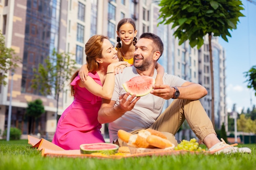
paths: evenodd
<path fill-rule="evenodd" d="M 122 44 L 129 45 L 132 43 L 133 38 L 137 35 L 137 30 L 134 30 L 132 24 L 126 23 L 120 26 L 117 35 L 120 37 Z"/>

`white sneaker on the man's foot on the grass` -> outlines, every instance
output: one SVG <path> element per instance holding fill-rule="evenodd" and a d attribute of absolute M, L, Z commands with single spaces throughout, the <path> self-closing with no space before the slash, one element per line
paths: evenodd
<path fill-rule="evenodd" d="M 238 148 L 234 146 L 230 146 L 229 144 L 226 144 L 226 142 L 221 138 L 222 142 L 215 144 L 213 147 L 209 149 L 209 151 L 215 152 L 215 154 L 225 153 L 251 153 L 251 149 L 249 148 Z"/>

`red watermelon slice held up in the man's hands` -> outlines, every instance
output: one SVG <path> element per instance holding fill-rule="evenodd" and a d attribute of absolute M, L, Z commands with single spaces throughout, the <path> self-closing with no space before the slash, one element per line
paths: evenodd
<path fill-rule="evenodd" d="M 144 96 L 150 93 L 155 84 L 155 79 L 150 76 L 141 75 L 132 77 L 129 81 L 126 81 L 123 86 L 126 92 L 130 92 L 130 95 L 136 94 L 136 96 Z"/>

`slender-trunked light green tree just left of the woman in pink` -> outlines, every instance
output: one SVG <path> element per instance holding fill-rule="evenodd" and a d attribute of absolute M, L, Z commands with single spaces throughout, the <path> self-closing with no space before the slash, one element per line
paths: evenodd
<path fill-rule="evenodd" d="M 66 82 L 68 82 L 74 73 L 76 62 L 71 59 L 69 53 L 57 53 L 55 49 L 51 56 L 45 59 L 45 63 L 39 64 L 38 70 L 34 71 L 32 79 L 32 88 L 39 94 L 50 95 L 56 100 L 55 119 L 58 114 L 59 95 L 63 92 Z"/>

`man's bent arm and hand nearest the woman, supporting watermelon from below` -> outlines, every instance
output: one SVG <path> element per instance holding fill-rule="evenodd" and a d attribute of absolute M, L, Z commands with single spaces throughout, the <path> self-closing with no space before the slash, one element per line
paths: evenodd
<path fill-rule="evenodd" d="M 124 113 L 129 110 L 132 110 L 136 102 L 140 99 L 140 97 L 136 97 L 136 95 L 132 95 L 129 99 L 127 97 L 130 93 L 126 93 L 124 95 L 119 96 L 119 104 L 114 106 L 116 101 L 102 99 L 101 108 L 98 112 L 98 121 L 101 124 L 110 123 L 115 121 Z"/>

